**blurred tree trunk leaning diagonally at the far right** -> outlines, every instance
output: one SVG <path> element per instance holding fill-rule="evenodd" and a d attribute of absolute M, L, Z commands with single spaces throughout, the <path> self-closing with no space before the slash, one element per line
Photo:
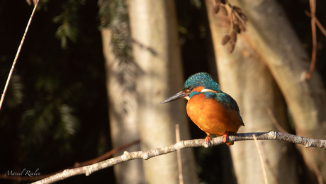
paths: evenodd
<path fill-rule="evenodd" d="M 309 70 L 309 57 L 300 45 L 291 23 L 276 1 L 239 1 L 248 13 L 250 22 L 247 34 L 249 43 L 269 66 L 296 125 L 299 136 L 314 139 L 326 138 L 326 92 L 320 75 L 315 71 L 310 80 L 305 80 Z M 310 26 L 307 25 L 307 26 Z M 318 177 L 318 182 L 326 181 L 326 166 L 320 157 L 326 156 L 325 149 L 305 150 L 298 147 L 308 166 L 310 178 Z M 317 164 L 316 164 L 317 163 Z M 318 169 L 317 169 L 318 166 Z"/>

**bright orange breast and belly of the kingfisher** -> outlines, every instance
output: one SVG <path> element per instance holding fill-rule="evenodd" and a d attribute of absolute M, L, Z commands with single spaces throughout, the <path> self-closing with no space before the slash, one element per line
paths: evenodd
<path fill-rule="evenodd" d="M 196 94 L 187 103 L 190 119 L 207 134 L 222 136 L 225 131 L 235 134 L 242 121 L 236 110 L 227 108 L 205 94 Z"/>

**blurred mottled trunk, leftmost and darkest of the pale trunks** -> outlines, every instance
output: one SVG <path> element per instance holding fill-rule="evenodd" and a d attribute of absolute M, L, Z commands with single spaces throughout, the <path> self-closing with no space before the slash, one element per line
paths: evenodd
<path fill-rule="evenodd" d="M 128 31 L 128 28 L 127 28 Z M 111 30 L 101 30 L 103 55 L 106 59 L 106 87 L 108 90 L 109 120 L 113 148 L 140 139 L 137 130 L 137 99 L 135 94 L 135 70 L 133 63 L 116 58 L 111 44 Z M 140 144 L 125 151 L 140 151 Z M 115 156 L 123 154 L 120 151 Z M 116 182 L 145 183 L 142 161 L 134 160 L 113 166 Z"/>

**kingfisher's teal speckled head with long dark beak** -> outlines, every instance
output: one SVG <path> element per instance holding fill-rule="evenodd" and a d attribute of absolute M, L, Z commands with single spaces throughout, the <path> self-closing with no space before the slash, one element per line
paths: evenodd
<path fill-rule="evenodd" d="M 174 94 L 172 97 L 165 99 L 161 102 L 161 104 L 172 102 L 176 99 L 190 99 L 194 94 L 199 94 L 201 92 L 222 92 L 220 90 L 220 86 L 218 82 L 213 80 L 212 76 L 210 76 L 206 72 L 199 72 L 194 75 L 191 75 L 186 82 L 184 82 L 184 87 L 181 92 Z"/>

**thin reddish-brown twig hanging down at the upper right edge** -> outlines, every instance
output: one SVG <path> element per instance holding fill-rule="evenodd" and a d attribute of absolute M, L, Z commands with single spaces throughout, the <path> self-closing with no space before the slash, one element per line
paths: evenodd
<path fill-rule="evenodd" d="M 316 11 L 316 2 L 315 0 L 309 0 L 310 3 L 310 13 L 311 13 L 311 33 L 313 35 L 313 52 L 311 54 L 311 64 L 310 69 L 307 75 L 305 75 L 306 79 L 310 79 L 313 74 L 313 69 L 315 68 L 316 63 L 316 54 L 317 54 L 317 36 L 316 36 L 316 21 L 315 21 L 315 11 Z"/>

